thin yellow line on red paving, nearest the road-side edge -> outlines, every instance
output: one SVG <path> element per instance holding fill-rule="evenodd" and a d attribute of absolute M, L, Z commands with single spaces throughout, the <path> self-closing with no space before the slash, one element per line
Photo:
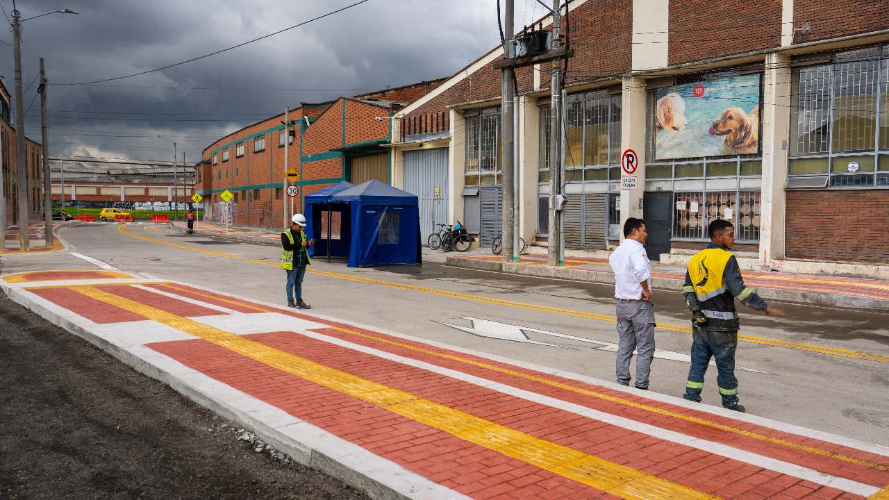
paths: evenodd
<path fill-rule="evenodd" d="M 889 466 L 886 466 L 886 465 L 875 464 L 872 462 L 868 462 L 866 460 L 861 460 L 858 458 L 854 458 L 852 456 L 845 456 L 845 455 L 841 455 L 838 453 L 833 453 L 833 452 L 822 450 L 819 448 L 807 447 L 805 445 L 800 445 L 800 444 L 794 443 L 792 441 L 773 438 L 771 436 L 766 436 L 765 434 L 759 434 L 757 432 L 744 431 L 742 429 L 738 429 L 737 427 L 732 427 L 731 425 L 725 425 L 725 423 L 711 422 L 709 420 L 705 420 L 705 419 L 697 417 L 697 416 L 685 415 L 685 414 L 678 413 L 675 411 L 671 411 L 671 410 L 667 410 L 667 409 L 663 409 L 663 408 L 659 408 L 659 407 L 653 407 L 650 405 L 645 405 L 644 403 L 639 403 L 637 401 L 630 401 L 629 399 L 618 398 L 616 396 L 609 396 L 608 394 L 604 394 L 602 392 L 581 389 L 580 387 L 574 387 L 573 385 L 569 385 L 567 383 L 555 382 L 555 381 L 541 378 L 538 376 L 523 374 L 521 372 L 517 372 L 515 370 L 510 370 L 508 368 L 495 367 L 493 365 L 489 365 L 487 363 L 482 363 L 480 361 L 473 361 L 472 359 L 461 358 L 459 356 L 453 356 L 453 355 L 445 354 L 442 352 L 430 351 L 428 349 L 423 349 L 421 347 L 417 347 L 417 346 L 411 345 L 409 343 L 399 343 L 396 341 L 391 341 L 388 339 L 380 338 L 380 337 L 377 337 L 374 335 L 362 334 L 361 332 L 348 330 L 347 328 L 340 328 L 340 327 L 331 327 L 331 328 L 333 328 L 334 330 L 339 330 L 340 332 L 343 332 L 346 334 L 357 335 L 357 336 L 372 339 L 374 341 L 378 341 L 381 343 L 388 343 L 391 345 L 396 345 L 396 346 L 404 348 L 404 349 L 422 352 L 423 354 L 429 354 L 432 356 L 436 356 L 438 358 L 451 359 L 453 361 L 459 361 L 461 363 L 466 363 L 467 365 L 472 365 L 474 367 L 485 368 L 485 369 L 492 370 L 492 371 L 495 371 L 495 372 L 498 372 L 501 374 L 512 375 L 517 378 L 523 378 L 525 380 L 530 380 L 533 382 L 545 383 L 545 384 L 550 385 L 552 387 L 557 387 L 559 389 L 565 389 L 566 391 L 577 392 L 577 393 L 583 394 L 585 396 L 592 396 L 592 397 L 598 398 L 598 399 L 605 399 L 605 400 L 611 401 L 613 403 L 619 403 L 621 405 L 626 405 L 629 407 L 644 409 L 646 411 L 659 413 L 661 415 L 668 415 L 668 416 L 671 416 L 674 418 L 686 420 L 688 422 L 700 423 L 701 425 L 706 425 L 708 427 L 714 427 L 714 428 L 719 429 L 721 431 L 729 431 L 729 432 L 733 432 L 736 434 L 741 434 L 742 436 L 746 436 L 748 438 L 753 438 L 756 440 L 764 440 L 764 441 L 768 441 L 770 443 L 786 446 L 788 448 L 794 448 L 794 449 L 798 449 L 801 451 L 813 453 L 815 455 L 828 456 L 830 458 L 836 458 L 837 460 L 842 460 L 844 462 L 849 462 L 852 464 L 859 464 L 859 465 L 863 465 L 865 467 L 869 467 L 871 469 L 877 469 L 879 471 L 889 472 Z"/>

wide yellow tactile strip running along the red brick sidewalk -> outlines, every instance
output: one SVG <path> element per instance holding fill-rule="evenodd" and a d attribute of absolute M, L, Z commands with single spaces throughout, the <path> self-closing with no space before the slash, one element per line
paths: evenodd
<path fill-rule="evenodd" d="M 130 310 L 189 335 L 195 335 L 229 351 L 260 361 L 269 367 L 275 367 L 353 398 L 362 399 L 397 415 L 448 432 L 462 440 L 468 440 L 621 498 L 632 500 L 643 498 L 665 500 L 668 498 L 701 500 L 717 498 L 717 496 L 663 480 L 647 472 L 615 464 L 551 441 L 541 440 L 525 432 L 516 431 L 428 399 L 422 399 L 410 392 L 399 391 L 393 387 L 326 367 L 261 343 L 255 343 L 219 328 L 208 327 L 192 319 L 182 318 L 140 302 L 102 292 L 92 286 L 71 286 L 70 288 L 77 293 Z"/>

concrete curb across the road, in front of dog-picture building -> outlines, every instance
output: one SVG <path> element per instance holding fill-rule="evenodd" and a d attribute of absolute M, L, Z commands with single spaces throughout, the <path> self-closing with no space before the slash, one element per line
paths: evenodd
<path fill-rule="evenodd" d="M 447 257 L 445 265 L 473 270 L 491 270 L 496 272 L 510 272 L 523 276 L 535 276 L 540 278 L 571 279 L 588 283 L 602 283 L 613 285 L 614 277 L 611 273 L 597 272 L 595 270 L 578 270 L 570 268 L 552 268 L 549 266 L 529 266 L 525 264 L 509 264 L 503 262 L 481 261 L 477 259 L 464 259 L 461 257 Z M 659 290 L 678 292 L 682 290 L 683 280 L 675 278 L 653 278 L 652 286 Z M 765 288 L 755 286 L 759 296 L 765 300 L 779 302 L 796 302 L 809 305 L 823 305 L 829 307 L 843 307 L 849 309 L 889 310 L 889 301 L 855 297 L 845 294 L 826 294 L 821 292 L 806 292 L 802 290 L 788 290 L 784 288 Z"/>

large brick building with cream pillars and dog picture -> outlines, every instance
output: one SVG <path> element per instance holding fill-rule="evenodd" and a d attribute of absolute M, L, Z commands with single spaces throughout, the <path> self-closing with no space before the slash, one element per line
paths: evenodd
<path fill-rule="evenodd" d="M 565 70 L 566 246 L 605 250 L 636 216 L 650 254 L 681 262 L 709 240 L 707 224 L 725 218 L 736 251 L 767 267 L 889 262 L 885 238 L 869 236 L 889 229 L 884 7 L 570 2 L 561 26 L 574 51 Z M 550 29 L 551 18 L 539 22 Z M 423 232 L 461 220 L 483 245 L 500 232 L 493 62 L 503 55 L 495 47 L 393 117 L 392 182 L 428 203 Z M 517 69 L 517 82 L 519 224 L 525 240 L 545 239 L 549 64 Z M 622 190 L 629 149 L 637 188 Z"/>

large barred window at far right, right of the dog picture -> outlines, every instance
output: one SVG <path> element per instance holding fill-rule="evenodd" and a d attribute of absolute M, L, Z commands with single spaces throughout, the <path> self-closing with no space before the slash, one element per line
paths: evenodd
<path fill-rule="evenodd" d="M 795 60 L 789 186 L 889 184 L 889 45 Z M 821 180 L 820 182 L 818 180 Z"/>

